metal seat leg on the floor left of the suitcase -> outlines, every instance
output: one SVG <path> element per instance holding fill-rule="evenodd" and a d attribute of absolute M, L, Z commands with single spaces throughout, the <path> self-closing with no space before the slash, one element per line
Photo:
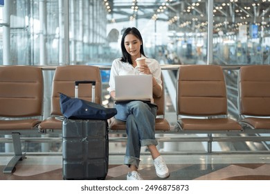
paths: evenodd
<path fill-rule="evenodd" d="M 26 154 L 21 152 L 21 139 L 19 133 L 12 133 L 12 141 L 15 155 L 10 159 L 6 167 L 3 169 L 3 173 L 12 173 L 17 162 L 26 158 Z"/>

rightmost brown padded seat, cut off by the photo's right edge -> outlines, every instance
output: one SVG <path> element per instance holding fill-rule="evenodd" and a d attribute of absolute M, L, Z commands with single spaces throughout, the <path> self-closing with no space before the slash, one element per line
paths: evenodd
<path fill-rule="evenodd" d="M 264 118 L 270 116 L 270 66 L 241 67 L 238 83 L 241 123 L 270 130 L 270 118 Z"/>

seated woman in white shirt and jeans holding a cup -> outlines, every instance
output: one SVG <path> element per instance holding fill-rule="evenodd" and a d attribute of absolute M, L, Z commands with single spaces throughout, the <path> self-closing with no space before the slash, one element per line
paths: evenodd
<path fill-rule="evenodd" d="M 114 77 L 117 75 L 139 75 L 140 73 L 152 74 L 153 95 L 161 96 L 161 67 L 159 63 L 145 57 L 143 51 L 143 39 L 141 33 L 136 28 L 127 28 L 121 40 L 122 58 L 114 60 L 111 65 L 111 75 L 109 79 L 109 92 L 115 98 Z M 145 58 L 145 64 L 136 68 L 136 59 Z M 132 86 L 130 86 L 132 87 Z M 129 166 L 128 180 L 143 179 L 138 173 L 140 163 L 141 146 L 147 146 L 150 150 L 156 175 L 161 178 L 169 177 L 170 173 L 156 148 L 158 144 L 154 134 L 154 122 L 156 118 L 156 106 L 134 100 L 129 103 L 116 103 L 118 114 L 115 118 L 126 122 L 127 149 L 124 163 Z"/>

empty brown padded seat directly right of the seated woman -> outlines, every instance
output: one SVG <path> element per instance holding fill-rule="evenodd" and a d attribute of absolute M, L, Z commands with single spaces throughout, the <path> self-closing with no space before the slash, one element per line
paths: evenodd
<path fill-rule="evenodd" d="M 217 65 L 179 67 L 177 115 L 189 117 L 178 119 L 181 130 L 242 130 L 237 121 L 227 118 L 226 83 L 222 67 Z"/>

